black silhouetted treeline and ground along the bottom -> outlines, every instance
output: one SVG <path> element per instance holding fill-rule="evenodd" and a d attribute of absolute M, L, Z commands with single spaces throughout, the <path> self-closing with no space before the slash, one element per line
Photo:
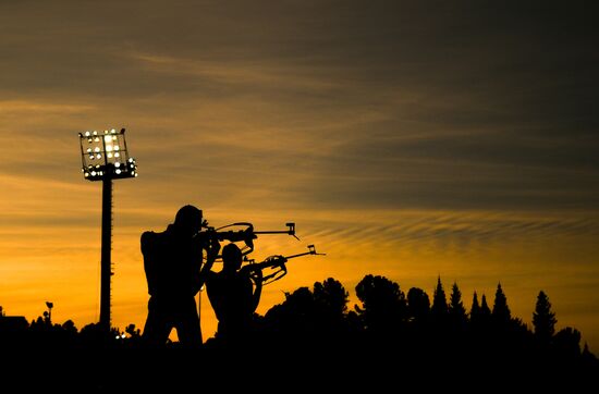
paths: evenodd
<path fill-rule="evenodd" d="M 398 283 L 372 274 L 356 285 L 355 295 L 359 305 L 350 308 L 349 292 L 332 278 L 313 288 L 300 287 L 285 293 L 285 300 L 264 316 L 254 315 L 246 343 L 232 346 L 217 333 L 199 349 L 172 342 L 149 350 L 134 324 L 124 331 L 106 332 L 96 323 L 78 330 L 72 320 L 53 323 L 49 312 L 27 322 L 0 309 L 3 365 L 19 369 L 25 361 L 24 370 L 46 379 L 62 373 L 68 381 L 108 391 L 123 373 L 132 387 L 187 384 L 197 373 L 203 379 L 295 373 L 301 378 L 295 384 L 318 378 L 319 384 L 351 387 L 365 381 L 393 384 L 424 373 L 429 379 L 411 380 L 412 384 L 467 386 L 493 381 L 497 387 L 517 381 L 536 389 L 582 384 L 599 375 L 599 360 L 586 343 L 580 345 L 582 333 L 572 327 L 557 331 L 558 319 L 543 291 L 531 311 L 531 327 L 512 316 L 501 283 L 492 304 L 475 292 L 469 310 L 457 283 L 448 297 L 440 276 L 431 297 L 418 287 L 404 292 Z M 196 372 L 185 378 L 183 371 Z"/>

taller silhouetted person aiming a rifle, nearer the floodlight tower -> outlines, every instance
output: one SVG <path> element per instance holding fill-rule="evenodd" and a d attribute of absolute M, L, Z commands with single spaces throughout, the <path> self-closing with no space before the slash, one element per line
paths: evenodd
<path fill-rule="evenodd" d="M 183 345 L 203 344 L 195 296 L 218 256 L 217 239 L 197 237 L 203 225 L 200 209 L 182 207 L 174 223 L 160 233 L 142 234 L 140 246 L 148 283 L 148 316 L 142 337 L 154 346 L 167 343 L 174 328 Z M 204 253 L 207 258 L 203 267 Z"/>

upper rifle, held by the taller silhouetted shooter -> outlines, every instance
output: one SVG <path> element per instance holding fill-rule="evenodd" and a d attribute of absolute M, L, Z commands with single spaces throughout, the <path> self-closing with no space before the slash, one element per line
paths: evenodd
<path fill-rule="evenodd" d="M 219 242 L 222 241 L 230 241 L 232 243 L 236 242 L 244 242 L 245 246 L 242 248 L 242 256 L 246 256 L 254 251 L 254 239 L 258 237 L 259 234 L 288 234 L 293 235 L 297 241 L 300 238 L 295 235 L 295 223 L 285 223 L 288 226 L 288 230 L 276 230 L 276 231 L 255 231 L 254 224 L 247 223 L 247 222 L 237 222 L 237 223 L 231 223 L 223 225 L 221 227 L 215 229 L 213 226 L 209 226 L 208 222 L 204 220 L 201 223 L 200 231 L 197 232 L 194 237 L 197 237 L 200 239 L 203 244 L 207 244 L 209 241 L 217 239 Z M 228 230 L 223 231 L 223 229 L 233 227 L 233 226 L 244 226 L 243 230 Z M 201 230 L 206 229 L 206 230 Z M 219 255 L 217 258 L 220 258 Z"/>

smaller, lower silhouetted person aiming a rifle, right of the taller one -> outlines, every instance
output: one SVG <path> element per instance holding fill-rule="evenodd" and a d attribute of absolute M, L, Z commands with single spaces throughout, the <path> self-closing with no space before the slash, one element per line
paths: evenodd
<path fill-rule="evenodd" d="M 206 291 L 218 319 L 216 338 L 232 345 L 252 341 L 253 316 L 260 301 L 262 271 L 242 267 L 242 251 L 234 243 L 222 248 L 222 270 L 207 273 Z"/>

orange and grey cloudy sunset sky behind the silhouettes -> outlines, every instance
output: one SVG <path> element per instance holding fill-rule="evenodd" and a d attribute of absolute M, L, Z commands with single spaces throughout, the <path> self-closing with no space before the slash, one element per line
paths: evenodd
<path fill-rule="evenodd" d="M 425 290 L 499 282 L 531 327 L 599 349 L 598 25 L 560 7 L 457 1 L 0 1 L 0 306 L 99 319 L 101 182 L 78 133 L 125 128 L 112 325 L 143 328 L 139 251 L 193 204 L 213 226 L 296 223 L 258 312 L 334 278 Z M 481 4 L 482 3 L 482 4 Z M 201 294 L 204 337 L 216 330 Z"/>

